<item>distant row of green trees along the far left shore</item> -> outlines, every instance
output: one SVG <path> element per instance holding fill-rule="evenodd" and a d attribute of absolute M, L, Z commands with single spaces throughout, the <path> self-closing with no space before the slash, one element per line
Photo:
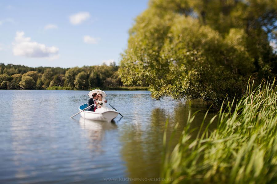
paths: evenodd
<path fill-rule="evenodd" d="M 0 63 L 0 89 L 89 90 L 122 86 L 115 63 L 73 68 L 26 67 Z"/>

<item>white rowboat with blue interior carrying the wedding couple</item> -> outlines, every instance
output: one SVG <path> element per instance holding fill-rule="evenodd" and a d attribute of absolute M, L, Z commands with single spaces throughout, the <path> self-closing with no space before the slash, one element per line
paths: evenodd
<path fill-rule="evenodd" d="M 87 107 L 87 104 L 83 104 L 79 107 L 79 111 L 82 111 Z M 81 116 L 85 119 L 96 120 L 96 121 L 112 121 L 117 117 L 118 112 L 116 110 L 110 110 L 103 113 L 97 113 L 93 111 L 84 110 L 80 113 Z"/>

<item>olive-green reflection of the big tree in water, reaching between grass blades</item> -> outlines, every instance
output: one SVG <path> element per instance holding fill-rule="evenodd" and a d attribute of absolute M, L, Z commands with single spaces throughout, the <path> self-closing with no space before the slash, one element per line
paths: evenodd
<path fill-rule="evenodd" d="M 163 132 L 167 118 L 169 118 L 168 135 L 171 134 L 174 126 L 179 122 L 173 140 L 173 144 L 175 144 L 186 126 L 189 110 L 193 114 L 199 109 L 201 111 L 198 112 L 191 124 L 191 128 L 199 128 L 207 111 L 206 105 L 200 100 L 192 101 L 191 104 L 189 102 L 178 103 L 174 109 L 174 114 L 169 116 L 164 109 L 153 109 L 150 123 L 135 123 L 125 127 L 124 132 L 121 132 L 121 141 L 123 142 L 121 154 L 126 161 L 128 177 L 159 178 L 163 151 Z M 206 121 L 209 121 L 213 116 L 214 113 L 209 113 Z M 197 130 L 195 133 L 197 134 Z M 133 181 L 133 183 L 136 182 Z"/>

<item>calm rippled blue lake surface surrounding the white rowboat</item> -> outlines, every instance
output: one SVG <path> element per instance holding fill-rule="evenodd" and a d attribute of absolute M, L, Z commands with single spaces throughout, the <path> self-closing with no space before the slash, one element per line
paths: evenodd
<path fill-rule="evenodd" d="M 0 183 L 104 183 L 107 178 L 117 180 L 110 183 L 141 183 L 131 179 L 159 178 L 167 118 L 169 131 L 179 122 L 181 132 L 189 110 L 201 110 L 192 128 L 199 127 L 207 110 L 200 100 L 156 101 L 148 91 L 106 91 L 108 103 L 123 118 L 118 115 L 115 123 L 80 115 L 70 119 L 87 102 L 88 92 L 0 90 Z"/>

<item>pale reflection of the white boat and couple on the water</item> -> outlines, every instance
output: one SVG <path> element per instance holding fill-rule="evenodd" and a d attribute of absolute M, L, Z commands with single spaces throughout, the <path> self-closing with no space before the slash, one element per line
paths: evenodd
<path fill-rule="evenodd" d="M 106 130 L 117 128 L 117 126 L 110 122 L 104 121 L 92 121 L 84 118 L 79 120 L 80 127 L 85 129 L 87 132 L 86 137 L 88 137 L 89 145 L 88 148 L 91 149 L 93 153 L 101 153 L 102 145 L 101 141 L 103 140 Z"/>

